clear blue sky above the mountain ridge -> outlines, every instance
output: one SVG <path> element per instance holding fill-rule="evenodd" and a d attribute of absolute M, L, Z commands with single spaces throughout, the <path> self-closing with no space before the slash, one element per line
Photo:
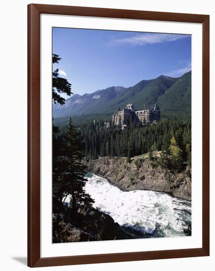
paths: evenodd
<path fill-rule="evenodd" d="M 54 65 L 83 95 L 191 69 L 191 35 L 53 28 Z M 66 96 L 64 96 L 67 98 Z"/>

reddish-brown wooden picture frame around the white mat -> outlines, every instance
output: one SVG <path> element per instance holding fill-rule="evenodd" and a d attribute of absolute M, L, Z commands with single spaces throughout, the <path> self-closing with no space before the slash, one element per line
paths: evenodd
<path fill-rule="evenodd" d="M 203 201 L 202 247 L 177 250 L 40 258 L 40 14 L 65 14 L 202 24 L 203 31 Z M 210 16 L 80 6 L 28 5 L 28 266 L 62 266 L 209 256 L 209 28 Z"/>

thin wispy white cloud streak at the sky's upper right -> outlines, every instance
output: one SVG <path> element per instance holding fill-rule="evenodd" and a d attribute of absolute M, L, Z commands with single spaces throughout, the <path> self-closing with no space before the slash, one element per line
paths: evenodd
<path fill-rule="evenodd" d="M 118 44 L 131 44 L 131 45 L 145 45 L 162 43 L 168 41 L 175 41 L 187 37 L 183 34 L 136 34 L 134 36 L 115 39 L 114 43 Z"/>

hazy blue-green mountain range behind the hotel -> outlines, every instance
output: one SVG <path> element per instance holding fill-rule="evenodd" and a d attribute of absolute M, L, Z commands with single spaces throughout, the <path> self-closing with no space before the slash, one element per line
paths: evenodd
<path fill-rule="evenodd" d="M 163 117 L 191 118 L 191 71 L 174 78 L 161 75 L 142 80 L 133 87 L 108 87 L 91 94 L 74 94 L 64 105 L 53 104 L 53 117 L 89 115 L 111 116 L 118 107 L 133 103 L 137 110 L 153 108 L 155 102 Z"/>

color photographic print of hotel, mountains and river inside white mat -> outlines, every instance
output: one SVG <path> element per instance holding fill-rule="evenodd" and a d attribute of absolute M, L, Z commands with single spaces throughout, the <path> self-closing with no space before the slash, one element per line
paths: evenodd
<path fill-rule="evenodd" d="M 191 35 L 52 28 L 52 117 L 53 243 L 191 236 Z"/>

